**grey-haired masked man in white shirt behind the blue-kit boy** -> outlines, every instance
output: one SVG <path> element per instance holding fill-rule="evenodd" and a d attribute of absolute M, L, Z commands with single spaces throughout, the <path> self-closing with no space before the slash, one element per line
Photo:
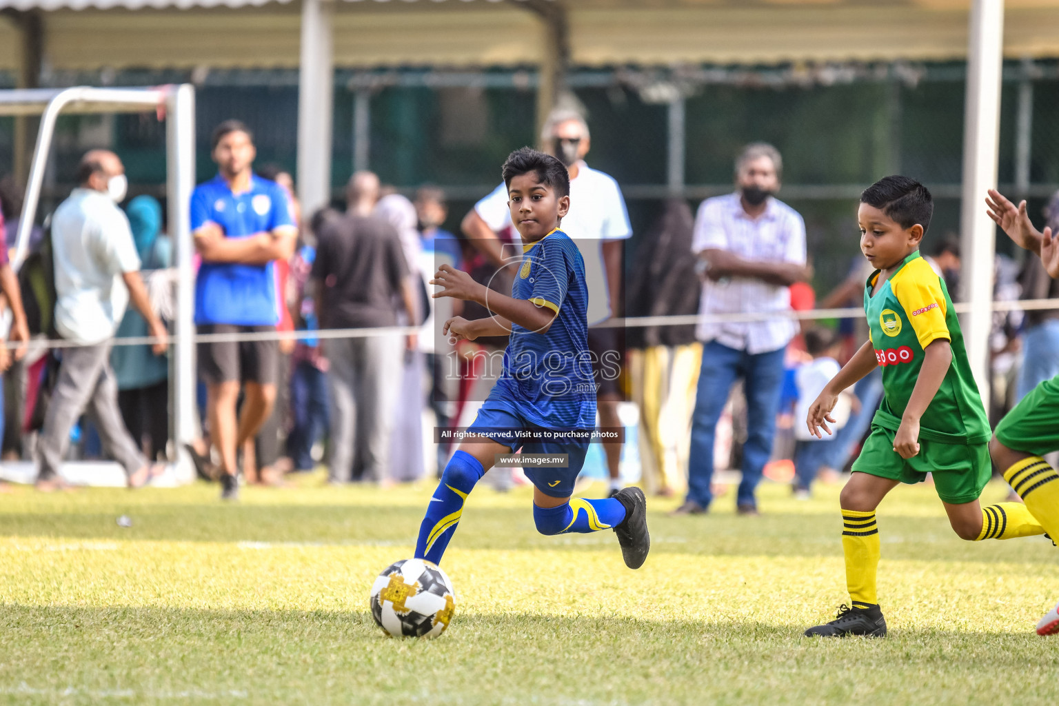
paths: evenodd
<path fill-rule="evenodd" d="M 577 243 L 585 258 L 588 324 L 592 327 L 622 315 L 623 241 L 632 235 L 625 199 L 613 178 L 585 163 L 590 135 L 580 113 L 569 109 L 553 111 L 541 131 L 541 141 L 545 151 L 557 157 L 570 173 L 570 213 L 562 218 L 561 229 Z M 497 235 L 510 228 L 507 189 L 503 183 L 474 204 L 464 217 L 462 228 L 471 243 L 497 267 L 520 261 L 521 253 L 514 257 L 513 253 L 505 253 Z M 617 378 L 624 349 L 621 329 L 589 328 L 596 405 L 599 426 L 604 428 L 622 426 L 617 417 L 617 403 L 622 399 Z M 609 494 L 613 495 L 622 488 L 618 469 L 622 445 L 605 443 L 604 449 L 610 475 Z"/>

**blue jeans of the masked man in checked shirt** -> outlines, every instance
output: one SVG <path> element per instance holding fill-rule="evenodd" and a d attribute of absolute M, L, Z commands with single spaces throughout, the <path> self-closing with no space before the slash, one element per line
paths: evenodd
<path fill-rule="evenodd" d="M 779 393 L 784 383 L 784 349 L 749 354 L 711 341 L 702 348 L 702 369 L 692 417 L 692 447 L 687 467 L 687 500 L 710 507 L 714 494 L 714 433 L 732 385 L 744 381 L 747 442 L 742 447 L 742 481 L 738 505 L 755 505 L 754 489 L 772 454 Z"/>

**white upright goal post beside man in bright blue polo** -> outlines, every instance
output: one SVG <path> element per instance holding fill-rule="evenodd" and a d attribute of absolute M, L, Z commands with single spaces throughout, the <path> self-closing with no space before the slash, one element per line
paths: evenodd
<path fill-rule="evenodd" d="M 165 123 L 169 237 L 176 245 L 177 318 L 173 346 L 173 440 L 178 473 L 191 475 L 191 459 L 184 445 L 198 436 L 195 414 L 195 273 L 192 269 L 191 200 L 195 188 L 195 89 L 183 85 L 170 90 Z"/>

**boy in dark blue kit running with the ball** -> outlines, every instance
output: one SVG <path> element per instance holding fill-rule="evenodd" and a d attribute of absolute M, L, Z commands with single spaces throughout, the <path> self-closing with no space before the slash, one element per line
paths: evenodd
<path fill-rule="evenodd" d="M 430 284 L 433 296 L 477 302 L 492 316 L 455 316 L 443 331 L 453 339 L 510 334 L 503 373 L 482 404 L 468 440 L 452 455 L 419 528 L 415 557 L 441 562 L 464 502 L 498 454 L 567 454 L 566 467 L 524 466 L 534 484 L 533 513 L 542 535 L 613 529 L 629 568 L 650 549 L 647 503 L 639 488 L 606 500 L 571 499 L 595 427 L 595 385 L 588 349 L 585 263 L 560 221 L 570 209 L 570 177 L 556 158 L 528 147 L 503 167 L 511 222 L 523 256 L 511 296 L 443 265 Z M 556 440 L 558 439 L 558 440 Z"/>

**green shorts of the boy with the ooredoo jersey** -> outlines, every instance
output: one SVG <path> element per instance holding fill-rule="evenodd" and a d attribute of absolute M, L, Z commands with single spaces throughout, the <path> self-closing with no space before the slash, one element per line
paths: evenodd
<path fill-rule="evenodd" d="M 896 432 L 872 426 L 864 448 L 854 461 L 854 471 L 901 483 L 922 483 L 934 474 L 937 496 L 951 505 L 979 499 L 992 476 L 988 443 L 943 443 L 919 439 L 919 453 L 901 458 L 894 451 Z"/>

